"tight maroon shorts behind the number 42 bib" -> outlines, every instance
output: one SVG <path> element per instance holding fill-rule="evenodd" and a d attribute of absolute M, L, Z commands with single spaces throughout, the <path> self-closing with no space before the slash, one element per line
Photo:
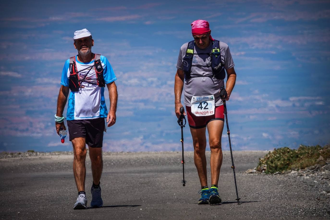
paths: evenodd
<path fill-rule="evenodd" d="M 190 106 L 186 106 L 186 113 L 190 128 L 205 128 L 209 122 L 214 120 L 224 121 L 225 118 L 223 105 L 215 106 L 215 113 L 213 115 L 195 116 L 191 113 Z"/>

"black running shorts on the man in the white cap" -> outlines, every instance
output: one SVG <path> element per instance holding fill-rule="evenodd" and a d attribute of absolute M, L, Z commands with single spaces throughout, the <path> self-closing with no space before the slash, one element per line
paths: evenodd
<path fill-rule="evenodd" d="M 102 147 L 104 118 L 67 121 L 70 141 L 76 137 L 86 138 L 89 147 Z"/>

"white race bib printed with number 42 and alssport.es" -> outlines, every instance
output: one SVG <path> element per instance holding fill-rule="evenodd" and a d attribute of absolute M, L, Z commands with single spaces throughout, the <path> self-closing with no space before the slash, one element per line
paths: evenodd
<path fill-rule="evenodd" d="M 192 96 L 191 113 L 196 116 L 213 115 L 215 109 L 214 95 Z"/>

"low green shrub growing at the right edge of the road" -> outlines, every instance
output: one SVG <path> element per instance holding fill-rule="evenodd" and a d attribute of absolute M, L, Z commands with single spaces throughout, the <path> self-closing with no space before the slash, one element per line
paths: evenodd
<path fill-rule="evenodd" d="M 330 158 L 329 145 L 324 147 L 319 145 L 300 145 L 297 150 L 281 147 L 268 152 L 264 158 L 260 158 L 257 169 L 262 170 L 264 165 L 267 165 L 265 173 L 283 172 L 289 169 L 305 169 L 306 167 L 317 164 L 317 159 L 320 156 L 324 160 Z M 324 162 L 320 162 L 320 164 L 324 164 Z"/>

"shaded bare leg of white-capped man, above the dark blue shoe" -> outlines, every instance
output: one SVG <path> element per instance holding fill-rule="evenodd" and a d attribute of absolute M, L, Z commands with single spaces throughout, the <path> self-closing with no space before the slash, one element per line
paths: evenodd
<path fill-rule="evenodd" d="M 89 158 L 92 164 L 93 183 L 98 185 L 102 175 L 103 161 L 102 148 L 89 147 Z"/>

